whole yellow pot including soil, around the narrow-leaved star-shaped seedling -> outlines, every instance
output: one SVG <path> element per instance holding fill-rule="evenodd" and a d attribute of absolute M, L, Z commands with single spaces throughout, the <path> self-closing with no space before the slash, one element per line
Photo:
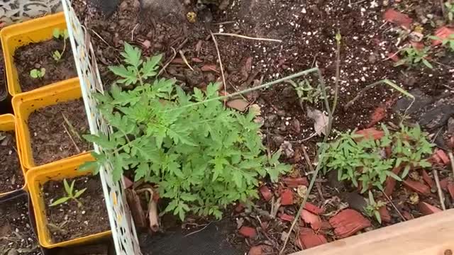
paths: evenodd
<path fill-rule="evenodd" d="M 92 176 L 91 171 L 79 171 L 81 164 L 91 160 L 93 158 L 86 154 L 67 159 L 60 164 L 40 166 L 28 171 L 26 178 L 35 211 L 38 240 L 43 247 L 51 249 L 90 244 L 111 235 L 109 218 L 101 191 L 101 182 L 97 181 L 96 183 L 99 185 L 93 185 L 93 183 L 79 181 L 85 178 L 91 178 L 91 180 L 99 179 L 99 176 Z M 81 205 L 77 205 L 76 200 L 67 200 L 65 203 L 51 206 L 52 203 L 61 198 L 62 192 L 65 192 L 63 185 L 55 188 L 52 183 L 63 183 L 64 180 L 67 180 L 70 185 L 72 180 L 79 182 L 74 185 L 74 193 L 83 189 L 81 185 L 87 188 L 82 193 L 82 196 L 78 197 Z M 52 199 L 49 200 L 49 198 Z M 65 218 L 60 217 L 60 220 L 56 220 L 55 211 L 58 211 L 57 214 L 60 214 L 60 216 L 61 213 L 66 214 Z M 102 211 L 103 216 L 93 218 L 93 215 L 99 211 Z M 74 219 L 79 219 L 80 222 L 74 221 Z M 96 222 L 93 222 L 94 220 Z M 70 227 L 74 226 L 74 223 L 77 223 L 78 230 L 73 231 L 72 227 Z M 104 230 L 93 233 L 94 229 L 100 228 L 98 226 L 102 226 Z M 81 234 L 78 232 L 80 229 L 86 229 L 91 233 Z M 65 237 L 64 241 L 55 241 L 57 239 L 56 234 L 61 233 L 67 237 L 74 238 L 67 239 Z"/>

